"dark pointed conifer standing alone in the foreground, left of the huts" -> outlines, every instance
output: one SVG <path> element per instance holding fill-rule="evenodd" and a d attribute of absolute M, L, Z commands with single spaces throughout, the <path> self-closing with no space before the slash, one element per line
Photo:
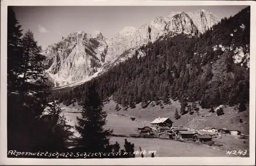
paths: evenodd
<path fill-rule="evenodd" d="M 104 130 L 106 112 L 96 92 L 95 85 L 90 85 L 84 96 L 81 117 L 77 117 L 75 129 L 81 135 L 78 147 L 84 152 L 104 152 L 109 143 L 111 130 Z"/>

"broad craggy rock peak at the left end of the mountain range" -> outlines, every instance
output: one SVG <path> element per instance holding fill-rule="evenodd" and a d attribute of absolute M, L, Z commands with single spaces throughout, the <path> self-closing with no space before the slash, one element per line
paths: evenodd
<path fill-rule="evenodd" d="M 47 73 L 55 86 L 91 76 L 105 61 L 108 45 L 100 32 L 75 32 L 45 51 L 50 68 Z"/>

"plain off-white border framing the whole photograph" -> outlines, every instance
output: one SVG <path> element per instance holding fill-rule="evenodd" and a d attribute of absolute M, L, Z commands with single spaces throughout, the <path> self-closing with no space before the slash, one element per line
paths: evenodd
<path fill-rule="evenodd" d="M 250 157 L 155 157 L 122 159 L 7 158 L 7 6 L 236 6 L 250 10 Z M 255 165 L 255 27 L 254 1 L 112 1 L 112 0 L 4 0 L 1 1 L 1 120 L 0 164 L 8 165 Z M 15 103 L 14 103 L 15 104 Z"/>

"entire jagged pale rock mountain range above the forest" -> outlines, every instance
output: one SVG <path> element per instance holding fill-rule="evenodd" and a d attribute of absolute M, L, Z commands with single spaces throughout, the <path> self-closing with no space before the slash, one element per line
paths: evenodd
<path fill-rule="evenodd" d="M 160 36 L 170 33 L 198 35 L 219 20 L 205 10 L 172 12 L 167 17 L 156 17 L 138 29 L 125 27 L 112 39 L 106 39 L 101 32 L 75 32 L 46 49 L 47 73 L 55 86 L 81 84 L 131 57 L 140 46 L 153 43 Z"/>

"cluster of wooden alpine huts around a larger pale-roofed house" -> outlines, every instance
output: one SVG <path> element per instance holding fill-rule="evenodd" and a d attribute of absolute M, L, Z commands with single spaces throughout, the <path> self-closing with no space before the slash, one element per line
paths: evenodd
<path fill-rule="evenodd" d="M 157 118 L 151 122 L 151 126 L 145 126 L 143 128 L 138 128 L 141 136 L 157 136 L 159 138 L 167 139 L 184 139 L 184 140 L 194 140 L 199 142 L 207 142 L 212 140 L 212 135 L 217 133 L 240 135 L 241 132 L 237 130 L 227 130 L 227 129 L 216 129 L 210 128 L 202 130 L 200 132 L 190 131 L 183 127 L 173 126 L 173 121 L 169 118 Z"/>

